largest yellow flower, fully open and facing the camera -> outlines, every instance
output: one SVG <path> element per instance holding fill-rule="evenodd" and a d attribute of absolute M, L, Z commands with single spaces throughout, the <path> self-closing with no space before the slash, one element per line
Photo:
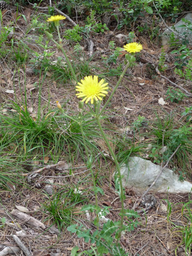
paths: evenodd
<path fill-rule="evenodd" d="M 85 103 L 91 100 L 91 104 L 93 104 L 94 100 L 102 100 L 101 96 L 105 97 L 108 93 L 106 91 L 108 83 L 105 83 L 104 79 L 98 82 L 98 76 L 85 76 L 78 85 L 76 86 L 76 91 L 79 92 L 76 94 L 77 98 L 83 98 L 82 101 Z"/>

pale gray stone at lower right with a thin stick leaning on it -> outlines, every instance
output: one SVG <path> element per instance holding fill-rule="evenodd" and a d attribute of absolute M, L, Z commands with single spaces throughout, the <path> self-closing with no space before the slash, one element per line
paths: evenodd
<path fill-rule="evenodd" d="M 130 157 L 129 163 L 121 167 L 123 186 L 142 193 L 149 188 L 159 172 L 161 166 L 140 157 Z M 192 183 L 179 181 L 177 174 L 165 168 L 150 192 L 189 193 L 191 190 Z"/>

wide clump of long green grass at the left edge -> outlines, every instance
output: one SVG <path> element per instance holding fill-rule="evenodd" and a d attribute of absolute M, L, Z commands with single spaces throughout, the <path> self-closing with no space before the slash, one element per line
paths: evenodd
<path fill-rule="evenodd" d="M 14 146 L 14 154 L 22 155 L 23 160 L 36 154 L 60 155 L 63 150 L 67 154 L 73 153 L 77 158 L 79 154 L 84 157 L 78 115 L 71 113 L 66 117 L 59 115 L 59 110 L 50 110 L 33 118 L 27 107 L 19 103 L 12 102 L 10 108 L 14 112 L 7 111 L 6 115 L 0 115 L 1 146 L 5 151 L 12 151 Z M 100 133 L 95 121 L 90 115 L 84 115 L 83 119 L 87 146 L 98 153 L 94 138 L 100 138 Z"/>

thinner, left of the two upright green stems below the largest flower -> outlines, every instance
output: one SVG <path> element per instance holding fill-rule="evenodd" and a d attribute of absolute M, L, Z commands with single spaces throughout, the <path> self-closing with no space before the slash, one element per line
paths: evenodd
<path fill-rule="evenodd" d="M 90 169 L 91 177 L 92 177 L 92 181 L 93 181 L 93 189 L 94 189 L 94 195 L 95 195 L 95 205 L 97 207 L 97 211 L 96 211 L 97 228 L 99 229 L 99 215 L 98 215 L 99 205 L 98 205 L 97 188 L 96 188 L 96 185 L 95 185 L 95 178 L 94 178 L 94 173 L 93 173 L 93 170 L 92 170 L 92 163 L 89 161 L 90 156 L 89 156 L 88 149 L 87 149 L 87 146 L 86 146 L 85 135 L 84 135 L 82 124 L 80 124 L 80 127 L 81 127 L 83 145 L 85 147 L 85 154 L 86 154 L 87 162 L 88 162 L 87 167 Z"/>

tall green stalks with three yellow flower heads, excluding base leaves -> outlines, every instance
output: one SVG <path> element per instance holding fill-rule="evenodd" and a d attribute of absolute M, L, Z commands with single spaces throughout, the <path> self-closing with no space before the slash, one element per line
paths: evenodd
<path fill-rule="evenodd" d="M 60 15 L 58 15 L 60 16 Z M 60 17 L 61 18 L 61 17 Z M 56 19 L 56 18 L 55 18 Z M 57 21 L 56 21 L 57 20 Z M 138 44 L 138 43 L 130 43 L 130 44 L 126 44 L 124 45 L 124 50 L 127 51 L 130 54 L 126 54 L 125 55 L 125 59 L 127 60 L 126 66 L 121 74 L 121 76 L 119 77 L 117 84 L 115 85 L 113 91 L 111 92 L 108 100 L 106 101 L 105 105 L 102 107 L 102 109 L 100 110 L 100 106 L 101 106 L 101 101 L 103 99 L 103 97 L 106 96 L 106 94 L 108 94 L 108 83 L 105 82 L 104 79 L 101 79 L 99 81 L 98 76 L 94 75 L 94 76 L 86 76 L 84 77 L 84 79 L 81 79 L 81 82 L 78 82 L 78 79 L 75 75 L 74 69 L 67 57 L 67 54 L 65 52 L 65 50 L 63 50 L 63 47 L 61 45 L 61 38 L 60 38 L 60 34 L 59 34 L 59 18 L 57 18 L 56 20 L 54 20 L 54 18 L 50 18 L 50 20 L 47 21 L 54 21 L 55 26 L 57 27 L 58 30 L 58 36 L 59 36 L 59 41 L 60 44 L 58 44 L 54 39 L 53 36 L 50 33 L 47 33 L 47 31 L 45 31 L 45 34 L 47 35 L 47 37 L 49 39 L 51 39 L 59 49 L 61 49 L 63 55 L 65 55 L 66 61 L 68 63 L 68 66 L 71 70 L 71 74 L 73 75 L 77 85 L 76 85 L 76 96 L 77 98 L 82 98 L 82 104 L 83 102 L 85 102 L 87 104 L 87 106 L 90 108 L 90 112 L 92 114 L 92 116 L 96 119 L 100 132 L 102 134 L 102 138 L 105 140 L 106 145 L 110 151 L 111 156 L 113 157 L 113 160 L 115 162 L 116 165 L 116 170 L 117 170 L 117 178 L 118 178 L 118 182 L 119 182 L 119 196 L 121 199 L 121 221 L 120 221 L 120 225 L 119 225 L 119 232 L 118 232 L 118 236 L 117 236 L 117 241 L 120 239 L 121 237 L 121 233 L 123 230 L 123 220 L 124 220 L 124 215 L 125 215 L 125 210 L 124 210 L 124 190 L 123 190 L 123 184 L 122 184 L 122 177 L 121 177 L 121 170 L 120 170 L 120 166 L 119 163 L 117 161 L 115 152 L 113 150 L 113 148 L 111 147 L 109 140 L 107 138 L 106 133 L 103 131 L 102 125 L 101 125 L 101 115 L 103 113 L 103 111 L 106 110 L 106 107 L 108 105 L 108 103 L 111 101 L 111 98 L 113 97 L 114 93 L 116 92 L 119 84 L 121 84 L 122 79 L 126 73 L 127 68 L 129 67 L 133 67 L 135 65 L 135 53 L 140 52 L 142 50 L 142 45 Z M 91 105 L 94 104 L 94 108 L 92 108 L 89 105 L 89 101 L 91 103 Z M 79 102 L 80 103 L 80 102 Z M 81 104 L 81 105 L 82 105 Z M 62 111 L 62 107 L 60 105 L 59 102 L 57 102 L 57 106 L 58 108 Z M 89 167 L 91 175 L 92 175 L 92 181 L 93 181 L 93 189 L 94 189 L 94 195 L 95 195 L 95 204 L 96 204 L 96 214 L 97 214 L 97 221 L 95 223 L 97 223 L 97 227 L 99 225 L 99 217 L 98 217 L 98 213 L 99 213 L 99 205 L 98 205 L 98 195 L 97 195 L 97 187 L 95 185 L 95 178 L 94 178 L 94 173 L 92 170 L 92 159 L 91 156 L 89 155 L 89 149 L 86 146 L 86 141 L 85 141 L 85 134 L 83 131 L 83 125 L 82 125 L 82 116 L 83 116 L 83 107 L 79 107 L 81 109 L 81 112 L 79 113 L 79 126 L 81 127 L 81 133 L 82 133 L 82 139 L 83 139 L 83 144 L 84 144 L 84 148 L 85 148 L 85 154 L 86 154 L 86 158 L 87 158 L 87 167 Z"/>

